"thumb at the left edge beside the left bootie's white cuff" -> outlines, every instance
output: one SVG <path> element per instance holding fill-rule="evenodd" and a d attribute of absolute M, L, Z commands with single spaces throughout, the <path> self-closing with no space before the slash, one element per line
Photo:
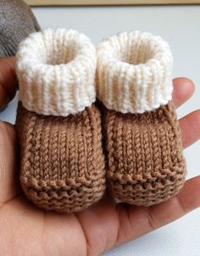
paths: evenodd
<path fill-rule="evenodd" d="M 17 90 L 15 58 L 0 58 L 0 108 L 13 99 Z"/>

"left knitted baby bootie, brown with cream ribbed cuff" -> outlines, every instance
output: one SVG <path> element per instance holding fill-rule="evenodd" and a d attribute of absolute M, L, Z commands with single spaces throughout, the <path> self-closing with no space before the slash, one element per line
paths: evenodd
<path fill-rule="evenodd" d="M 103 197 L 96 51 L 77 31 L 47 29 L 19 45 L 20 182 L 38 207 L 73 213 Z"/>

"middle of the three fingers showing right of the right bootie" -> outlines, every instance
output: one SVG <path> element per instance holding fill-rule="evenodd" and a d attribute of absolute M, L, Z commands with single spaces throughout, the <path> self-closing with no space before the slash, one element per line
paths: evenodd
<path fill-rule="evenodd" d="M 183 147 L 189 147 L 200 139 L 200 109 L 179 120 Z"/>

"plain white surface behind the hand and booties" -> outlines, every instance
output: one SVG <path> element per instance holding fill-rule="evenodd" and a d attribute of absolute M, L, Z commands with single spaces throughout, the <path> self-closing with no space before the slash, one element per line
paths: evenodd
<path fill-rule="evenodd" d="M 175 58 L 174 76 L 188 76 L 197 86 L 195 96 L 178 110 L 179 116 L 200 108 L 200 6 L 34 8 L 42 28 L 74 28 L 100 42 L 119 31 L 150 31 L 163 36 Z M 0 114 L 14 122 L 16 99 Z M 199 175 L 200 142 L 185 151 L 188 178 Z M 107 256 L 199 256 L 200 209 L 153 231 L 135 242 L 115 248 Z"/>

